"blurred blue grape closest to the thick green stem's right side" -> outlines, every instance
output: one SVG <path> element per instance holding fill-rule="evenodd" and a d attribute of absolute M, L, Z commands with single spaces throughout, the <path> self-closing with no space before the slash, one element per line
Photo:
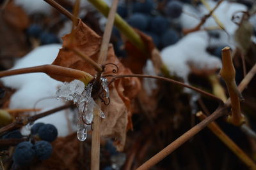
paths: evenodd
<path fill-rule="evenodd" d="M 128 18 L 127 22 L 134 28 L 146 30 L 149 24 L 149 18 L 150 17 L 143 15 L 142 13 L 134 13 Z"/>

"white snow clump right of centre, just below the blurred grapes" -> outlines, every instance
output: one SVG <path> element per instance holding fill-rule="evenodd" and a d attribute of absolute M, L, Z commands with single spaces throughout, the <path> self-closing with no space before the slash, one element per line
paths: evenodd
<path fill-rule="evenodd" d="M 175 45 L 164 48 L 161 57 L 170 74 L 175 74 L 188 83 L 188 63 L 193 63 L 199 69 L 220 68 L 221 60 L 206 52 L 208 39 L 206 31 L 192 32 Z"/>

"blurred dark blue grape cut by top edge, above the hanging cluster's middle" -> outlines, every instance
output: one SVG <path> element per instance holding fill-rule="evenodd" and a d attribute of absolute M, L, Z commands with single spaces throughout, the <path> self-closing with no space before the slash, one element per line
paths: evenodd
<path fill-rule="evenodd" d="M 153 0 L 135 1 L 132 5 L 132 11 L 149 14 L 154 10 L 155 6 L 156 4 Z"/>

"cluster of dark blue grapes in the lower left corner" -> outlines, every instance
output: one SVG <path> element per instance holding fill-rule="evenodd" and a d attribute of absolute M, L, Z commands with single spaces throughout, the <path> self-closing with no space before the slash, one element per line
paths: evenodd
<path fill-rule="evenodd" d="M 21 135 L 21 134 L 20 134 Z M 3 138 L 12 138 L 19 136 L 17 131 L 6 134 Z M 17 166 L 29 166 L 33 160 L 45 160 L 51 157 L 51 143 L 58 136 L 56 127 L 52 124 L 36 123 L 31 127 L 31 136 L 40 139 L 40 141 L 24 141 L 16 146 L 13 153 L 13 162 Z"/>

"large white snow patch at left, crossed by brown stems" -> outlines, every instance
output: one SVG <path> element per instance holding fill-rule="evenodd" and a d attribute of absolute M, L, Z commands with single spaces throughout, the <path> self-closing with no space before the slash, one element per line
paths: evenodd
<path fill-rule="evenodd" d="M 56 58 L 61 45 L 45 45 L 35 48 L 35 50 L 28 53 L 22 59 L 18 60 L 12 69 L 19 69 L 23 67 L 40 66 L 43 64 L 51 64 Z M 40 99 L 45 97 L 51 99 L 44 99 L 36 104 L 36 108 L 42 111 L 51 110 L 65 104 L 63 101 L 57 101 L 55 94 L 57 87 L 62 82 L 54 80 L 44 73 L 30 73 L 20 74 L 15 76 L 8 76 L 1 78 L 6 87 L 17 89 L 15 94 L 10 99 L 10 108 L 33 108 L 33 106 Z M 40 112 L 42 112 L 40 111 Z M 69 112 L 69 113 L 68 113 Z M 33 113 L 31 113 L 32 115 Z M 68 129 L 67 115 L 72 114 L 70 111 L 58 111 L 44 118 L 36 120 L 36 122 L 44 122 L 45 124 L 53 124 L 58 129 L 59 136 L 67 136 L 70 134 Z M 23 129 L 23 134 L 28 132 Z M 72 131 L 74 132 L 74 131 Z"/>

